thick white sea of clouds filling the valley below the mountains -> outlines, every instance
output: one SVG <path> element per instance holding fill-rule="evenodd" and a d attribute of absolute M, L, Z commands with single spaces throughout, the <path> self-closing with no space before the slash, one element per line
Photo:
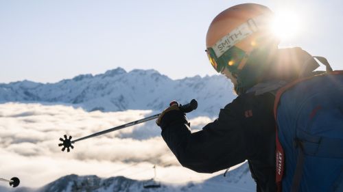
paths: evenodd
<path fill-rule="evenodd" d="M 40 187 L 68 174 L 145 180 L 154 176 L 153 165 L 157 166 L 157 179 L 163 182 L 182 183 L 215 176 L 182 167 L 167 148 L 154 120 L 77 142 L 69 153 L 58 147 L 59 138 L 65 134 L 77 139 L 155 112 L 103 113 L 65 105 L 1 104 L 0 178 L 19 177 L 25 187 Z M 213 121 L 207 117 L 189 120 L 194 131 Z"/>

